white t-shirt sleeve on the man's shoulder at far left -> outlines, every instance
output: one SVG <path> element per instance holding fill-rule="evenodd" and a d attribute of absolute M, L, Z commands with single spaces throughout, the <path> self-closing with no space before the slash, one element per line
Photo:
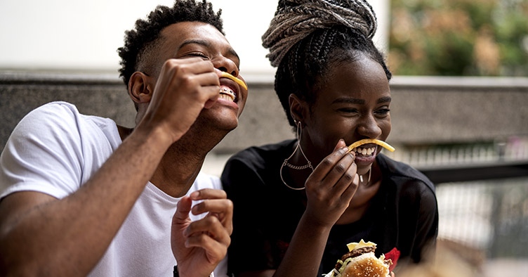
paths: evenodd
<path fill-rule="evenodd" d="M 16 191 L 64 198 L 81 186 L 77 116 L 73 105 L 52 103 L 19 122 L 0 157 L 0 198 Z"/>

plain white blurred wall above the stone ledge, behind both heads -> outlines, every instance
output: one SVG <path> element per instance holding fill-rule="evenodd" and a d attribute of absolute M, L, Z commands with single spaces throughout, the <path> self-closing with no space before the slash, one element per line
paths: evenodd
<path fill-rule="evenodd" d="M 388 45 L 388 1 L 372 1 L 380 25 L 374 40 L 383 49 Z M 275 71 L 260 37 L 277 1 L 209 2 L 215 11 L 222 9 L 225 34 L 241 57 L 244 76 L 272 78 Z M 2 0 L 0 68 L 114 74 L 124 32 L 157 5 L 172 4 L 173 0 Z"/>

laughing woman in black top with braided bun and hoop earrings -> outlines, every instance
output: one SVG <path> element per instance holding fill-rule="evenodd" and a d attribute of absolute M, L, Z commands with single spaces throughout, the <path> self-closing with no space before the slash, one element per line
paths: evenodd
<path fill-rule="evenodd" d="M 248 148 L 225 166 L 235 276 L 321 276 L 362 239 L 400 265 L 435 245 L 433 184 L 377 144 L 347 148 L 390 133 L 391 74 L 375 30 L 366 1 L 279 2 L 263 45 L 297 139 Z"/>

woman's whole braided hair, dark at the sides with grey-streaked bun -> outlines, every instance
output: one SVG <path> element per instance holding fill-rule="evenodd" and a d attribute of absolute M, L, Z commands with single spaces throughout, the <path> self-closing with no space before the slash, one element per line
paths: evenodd
<path fill-rule="evenodd" d="M 275 92 L 289 123 L 289 95 L 313 104 L 317 84 L 330 65 L 352 62 L 363 53 L 392 77 L 372 37 L 376 15 L 365 0 L 279 0 L 275 17 L 263 35 L 268 58 L 277 67 Z"/>

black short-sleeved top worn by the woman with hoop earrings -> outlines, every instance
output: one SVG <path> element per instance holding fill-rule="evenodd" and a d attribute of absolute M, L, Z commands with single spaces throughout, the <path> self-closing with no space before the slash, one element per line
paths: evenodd
<path fill-rule="evenodd" d="M 221 179 L 234 203 L 228 271 L 235 276 L 242 271 L 277 269 L 305 211 L 305 192 L 287 188 L 279 176 L 294 143 L 289 140 L 247 148 L 225 165 Z M 377 244 L 376 255 L 396 247 L 399 265 L 419 262 L 423 250 L 434 247 L 438 209 L 433 183 L 416 169 L 383 154 L 376 162 L 383 174 L 379 191 L 362 219 L 332 228 L 319 276 L 334 269 L 348 252 L 347 243 L 362 239 Z"/>

